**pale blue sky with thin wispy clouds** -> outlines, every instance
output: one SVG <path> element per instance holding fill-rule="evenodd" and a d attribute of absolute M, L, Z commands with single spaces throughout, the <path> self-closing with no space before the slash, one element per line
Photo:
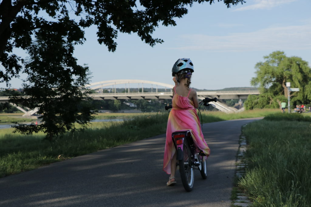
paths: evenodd
<path fill-rule="evenodd" d="M 175 61 L 190 58 L 194 65 L 191 87 L 208 90 L 251 87 L 255 64 L 277 50 L 311 65 L 310 0 L 245 1 L 230 8 L 217 0 L 211 5 L 194 3 L 188 14 L 175 19 L 177 26 L 156 28 L 152 36 L 164 43 L 154 47 L 137 34 L 119 33 L 116 51 L 108 52 L 97 42 L 96 27 L 91 27 L 74 56 L 78 64 L 89 66 L 90 83 L 139 79 L 173 84 Z M 23 78 L 13 79 L 11 88 L 20 88 Z M 0 87 L 6 88 L 5 83 Z"/>

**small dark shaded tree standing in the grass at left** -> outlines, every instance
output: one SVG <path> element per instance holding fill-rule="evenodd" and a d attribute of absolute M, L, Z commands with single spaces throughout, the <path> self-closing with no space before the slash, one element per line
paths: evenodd
<path fill-rule="evenodd" d="M 88 68 L 77 65 L 72 57 L 73 45 L 67 39 L 75 34 L 57 34 L 41 30 L 37 41 L 29 48 L 29 60 L 24 61 L 28 74 L 23 90 L 27 96 L 12 96 L 15 104 L 30 109 L 39 108 L 42 123 L 17 124 L 15 132 L 24 134 L 43 131 L 48 140 L 60 133 L 75 130 L 74 123 L 85 126 L 92 118 Z"/>

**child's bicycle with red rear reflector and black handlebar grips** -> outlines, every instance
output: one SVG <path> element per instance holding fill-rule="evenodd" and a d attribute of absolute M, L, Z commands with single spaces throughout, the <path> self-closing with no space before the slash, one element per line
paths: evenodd
<path fill-rule="evenodd" d="M 203 106 L 214 106 L 209 102 L 217 101 L 217 98 L 205 98 L 199 102 L 200 107 Z M 199 112 L 200 112 L 200 107 Z M 172 106 L 165 106 L 165 110 L 172 108 Z M 202 114 L 201 114 L 202 119 Z M 201 121 L 202 123 L 202 121 Z M 207 178 L 207 162 L 203 159 L 206 156 L 202 150 L 200 150 L 191 136 L 190 130 L 179 130 L 172 133 L 172 140 L 176 149 L 176 160 L 179 165 L 179 173 L 183 187 L 186 191 L 190 192 L 193 190 L 194 185 L 194 169 L 200 170 L 203 179 Z"/>

